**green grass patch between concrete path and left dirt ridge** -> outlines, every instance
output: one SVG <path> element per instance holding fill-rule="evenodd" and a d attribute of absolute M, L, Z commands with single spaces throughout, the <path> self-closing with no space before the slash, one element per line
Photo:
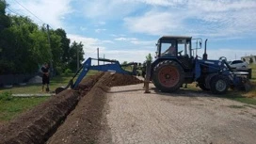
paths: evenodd
<path fill-rule="evenodd" d="M 15 98 L 11 97 L 10 92 L 4 92 L 0 95 L 0 122 L 11 120 L 48 99 L 49 97 Z"/>

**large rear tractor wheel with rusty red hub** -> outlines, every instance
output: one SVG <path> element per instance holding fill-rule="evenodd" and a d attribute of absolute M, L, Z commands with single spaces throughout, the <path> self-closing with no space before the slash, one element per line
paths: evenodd
<path fill-rule="evenodd" d="M 152 81 L 163 92 L 172 92 L 184 83 L 184 69 L 175 61 L 162 61 L 155 68 Z"/>

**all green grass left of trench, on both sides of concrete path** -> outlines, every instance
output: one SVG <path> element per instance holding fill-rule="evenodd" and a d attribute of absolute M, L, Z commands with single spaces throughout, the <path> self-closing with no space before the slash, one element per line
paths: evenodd
<path fill-rule="evenodd" d="M 89 71 L 88 75 L 93 75 L 97 71 Z M 50 80 L 50 89 L 67 86 L 74 74 L 58 75 Z M 76 78 L 73 82 L 75 82 Z M 21 113 L 35 107 L 50 97 L 12 97 L 12 93 L 40 93 L 41 84 L 27 85 L 24 87 L 0 88 L 0 123 L 12 120 Z"/>

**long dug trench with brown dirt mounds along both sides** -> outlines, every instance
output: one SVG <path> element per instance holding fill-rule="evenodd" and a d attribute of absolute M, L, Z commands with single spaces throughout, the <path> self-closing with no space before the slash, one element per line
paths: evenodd
<path fill-rule="evenodd" d="M 103 133 L 105 92 L 141 80 L 131 75 L 99 72 L 0 127 L 0 144 L 97 143 Z M 106 139 L 107 140 L 107 139 Z"/>

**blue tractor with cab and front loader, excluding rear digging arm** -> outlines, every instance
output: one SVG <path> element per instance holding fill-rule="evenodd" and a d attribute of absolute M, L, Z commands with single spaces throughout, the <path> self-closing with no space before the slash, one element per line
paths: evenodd
<path fill-rule="evenodd" d="M 211 90 L 215 94 L 224 94 L 229 88 L 250 88 L 248 79 L 232 72 L 224 56 L 218 60 L 207 58 L 207 40 L 202 57 L 197 56 L 202 40 L 196 40 L 195 48 L 192 48 L 192 40 L 192 37 L 180 36 L 163 36 L 158 40 L 156 59 L 149 68 L 151 72 L 146 75 L 156 88 L 173 92 L 183 84 L 193 82 L 197 82 L 201 89 Z"/>

